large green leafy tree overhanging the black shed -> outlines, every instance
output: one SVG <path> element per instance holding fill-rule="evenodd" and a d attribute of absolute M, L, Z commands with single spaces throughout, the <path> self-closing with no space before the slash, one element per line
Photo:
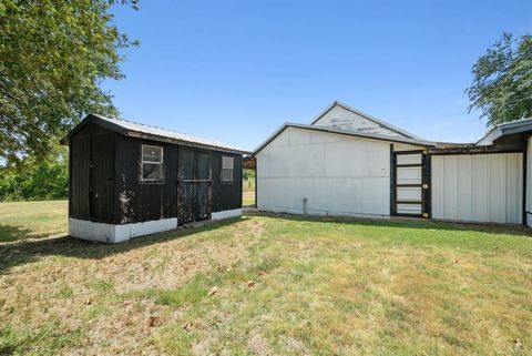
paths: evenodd
<path fill-rule="evenodd" d="M 0 162 L 44 155 L 88 112 L 116 114 L 100 88 L 137 44 L 110 7 L 137 0 L 0 0 Z"/>

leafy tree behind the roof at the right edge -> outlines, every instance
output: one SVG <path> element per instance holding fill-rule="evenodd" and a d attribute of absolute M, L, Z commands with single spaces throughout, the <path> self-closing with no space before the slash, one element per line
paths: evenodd
<path fill-rule="evenodd" d="M 466 93 L 488 125 L 532 118 L 532 35 L 503 33 L 472 69 Z"/>

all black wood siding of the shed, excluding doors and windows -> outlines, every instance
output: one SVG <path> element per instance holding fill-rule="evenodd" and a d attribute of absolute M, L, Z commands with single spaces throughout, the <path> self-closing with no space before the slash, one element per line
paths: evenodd
<path fill-rule="evenodd" d="M 140 181 L 142 144 L 163 148 L 163 182 Z M 177 160 L 181 148 L 124 136 L 96 124 L 88 124 L 70 139 L 70 216 L 113 224 L 177 217 Z M 241 207 L 242 155 L 201 151 L 211 153 L 213 181 L 209 211 Z M 234 159 L 231 183 L 221 179 L 223 155 Z M 209 194 L 206 196 L 209 197 Z"/>

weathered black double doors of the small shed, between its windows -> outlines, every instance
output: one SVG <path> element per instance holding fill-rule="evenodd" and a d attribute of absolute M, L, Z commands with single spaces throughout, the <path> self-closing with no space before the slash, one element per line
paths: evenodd
<path fill-rule="evenodd" d="M 180 148 L 177 169 L 177 223 L 211 218 L 211 153 Z"/>

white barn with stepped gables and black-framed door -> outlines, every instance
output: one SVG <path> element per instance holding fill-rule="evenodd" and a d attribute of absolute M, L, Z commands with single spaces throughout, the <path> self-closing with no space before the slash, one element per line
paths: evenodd
<path fill-rule="evenodd" d="M 429 142 L 334 102 L 255 150 L 257 207 L 531 225 L 531 138 L 529 119 L 477 143 Z"/>

